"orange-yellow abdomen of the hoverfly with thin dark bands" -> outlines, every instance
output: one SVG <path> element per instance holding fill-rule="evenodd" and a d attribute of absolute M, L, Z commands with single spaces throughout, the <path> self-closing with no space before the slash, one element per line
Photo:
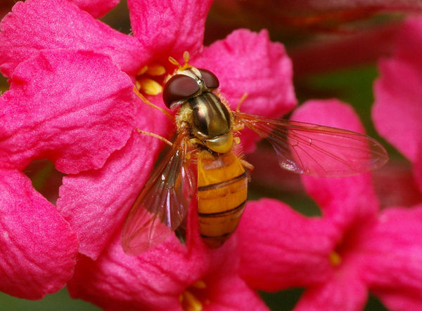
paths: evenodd
<path fill-rule="evenodd" d="M 238 157 L 198 153 L 199 232 L 208 246 L 221 246 L 236 230 L 247 196 L 248 173 Z"/>

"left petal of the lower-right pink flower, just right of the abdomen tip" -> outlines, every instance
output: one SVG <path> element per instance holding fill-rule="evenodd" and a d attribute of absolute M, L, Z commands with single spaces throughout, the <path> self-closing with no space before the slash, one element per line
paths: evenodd
<path fill-rule="evenodd" d="M 240 274 L 249 286 L 264 291 L 322 282 L 333 273 L 329 254 L 341 234 L 336 230 L 279 201 L 250 201 L 236 230 Z"/>

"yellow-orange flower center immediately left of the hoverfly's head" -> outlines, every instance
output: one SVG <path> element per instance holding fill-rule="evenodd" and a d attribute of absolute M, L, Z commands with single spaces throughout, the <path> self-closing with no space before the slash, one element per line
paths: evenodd
<path fill-rule="evenodd" d="M 146 95 L 158 95 L 162 93 L 162 84 L 165 83 L 166 78 L 165 67 L 151 62 L 136 74 L 136 88 Z"/>

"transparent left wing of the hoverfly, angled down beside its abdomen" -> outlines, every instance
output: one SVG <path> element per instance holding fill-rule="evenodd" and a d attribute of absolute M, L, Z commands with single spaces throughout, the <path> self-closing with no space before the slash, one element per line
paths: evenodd
<path fill-rule="evenodd" d="M 182 223 L 194 191 L 188 170 L 186 136 L 179 134 L 170 151 L 155 168 L 124 222 L 124 252 L 136 255 L 148 251 Z"/>

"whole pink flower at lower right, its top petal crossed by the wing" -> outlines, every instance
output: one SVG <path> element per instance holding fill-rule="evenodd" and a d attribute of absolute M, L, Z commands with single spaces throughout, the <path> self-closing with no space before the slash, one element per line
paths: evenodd
<path fill-rule="evenodd" d="M 294 119 L 363 130 L 337 100 L 309 101 Z M 362 310 L 369 291 L 393 310 L 419 310 L 422 205 L 379 211 L 369 173 L 302 181 L 321 217 L 271 199 L 245 209 L 237 232 L 247 284 L 264 291 L 306 287 L 296 310 Z"/>

